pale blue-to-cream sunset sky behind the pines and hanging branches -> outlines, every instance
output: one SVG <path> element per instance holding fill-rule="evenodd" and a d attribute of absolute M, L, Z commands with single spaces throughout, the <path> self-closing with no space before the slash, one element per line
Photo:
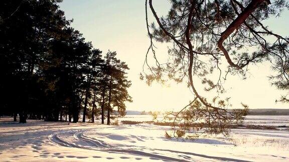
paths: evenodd
<path fill-rule="evenodd" d="M 168 11 L 168 0 L 154 0 L 159 15 Z M 127 103 L 127 110 L 178 110 L 188 104 L 193 94 L 186 84 L 170 83 L 170 86 L 153 83 L 148 86 L 139 79 L 142 63 L 150 40 L 147 36 L 145 20 L 145 0 L 64 0 L 61 9 L 68 19 L 73 18 L 72 27 L 83 33 L 86 41 L 92 41 L 95 48 L 103 53 L 108 49 L 117 52 L 117 57 L 128 64 L 128 78 L 132 85 L 128 89 L 133 102 Z M 283 36 L 287 35 L 289 12 L 266 22 L 270 29 Z M 153 20 L 151 14 L 149 19 Z M 167 56 L 168 44 L 157 44 L 157 56 Z M 289 108 L 289 104 L 275 103 L 284 92 L 270 85 L 267 76 L 271 74 L 268 63 L 250 65 L 246 80 L 230 76 L 224 96 L 231 97 L 233 108 L 239 108 L 240 102 L 249 108 Z M 202 91 L 201 95 L 212 96 Z"/>

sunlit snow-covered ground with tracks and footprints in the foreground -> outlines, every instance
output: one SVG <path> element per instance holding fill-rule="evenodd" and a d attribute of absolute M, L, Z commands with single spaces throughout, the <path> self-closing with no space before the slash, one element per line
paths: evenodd
<path fill-rule="evenodd" d="M 233 129 L 231 140 L 183 141 L 153 124 L 8 120 L 0 120 L 0 161 L 289 161 L 288 130 Z"/>

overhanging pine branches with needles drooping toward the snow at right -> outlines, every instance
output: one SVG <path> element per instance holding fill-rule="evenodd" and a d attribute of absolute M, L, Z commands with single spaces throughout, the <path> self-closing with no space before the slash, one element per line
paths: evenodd
<path fill-rule="evenodd" d="M 227 75 L 240 74 L 245 78 L 249 66 L 271 62 L 278 75 L 270 76 L 280 89 L 288 89 L 288 37 L 272 32 L 264 20 L 279 16 L 289 7 L 285 0 L 170 0 L 166 16 L 157 14 L 153 0 L 146 0 L 146 21 L 151 40 L 148 53 L 153 52 L 156 64 L 148 63 L 149 73 L 141 74 L 150 84 L 167 78 L 187 82 L 193 101 L 180 112 L 169 114 L 174 121 L 184 121 L 182 130 L 205 127 L 205 132 L 224 132 L 226 125 L 242 119 L 245 109 L 228 110 L 229 99 L 219 98 Z M 149 24 L 149 10 L 154 22 Z M 171 43 L 169 61 L 159 63 L 154 41 Z M 147 53 L 147 55 L 148 55 Z M 227 66 L 221 64 L 226 61 Z M 218 73 L 212 78 L 212 73 Z M 212 101 L 200 94 L 196 81 L 206 91 L 216 91 Z M 286 100 L 283 97 L 283 101 Z M 203 125 L 193 125 L 203 120 Z M 175 133 L 174 133 L 175 136 Z"/>

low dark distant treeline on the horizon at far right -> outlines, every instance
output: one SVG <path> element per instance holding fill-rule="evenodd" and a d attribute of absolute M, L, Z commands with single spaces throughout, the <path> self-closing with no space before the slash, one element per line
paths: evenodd
<path fill-rule="evenodd" d="M 248 115 L 289 115 L 289 109 L 249 109 Z"/>

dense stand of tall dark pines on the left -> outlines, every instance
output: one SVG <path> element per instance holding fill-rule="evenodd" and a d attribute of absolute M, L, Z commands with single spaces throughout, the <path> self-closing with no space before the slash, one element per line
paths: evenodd
<path fill-rule="evenodd" d="M 0 1 L 0 115 L 77 122 L 125 115 L 130 80 L 116 52 L 101 54 L 59 9 L 62 0 Z M 101 40 L 101 37 L 97 37 Z"/>

